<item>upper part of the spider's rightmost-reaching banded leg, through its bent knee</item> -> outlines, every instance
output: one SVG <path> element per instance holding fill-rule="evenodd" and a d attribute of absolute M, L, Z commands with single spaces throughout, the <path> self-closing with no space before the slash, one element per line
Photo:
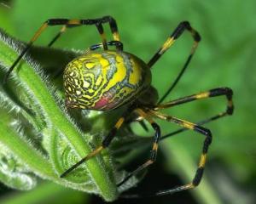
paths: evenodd
<path fill-rule="evenodd" d="M 207 98 L 223 96 L 223 95 L 226 96 L 226 99 L 227 99 L 227 108 L 225 113 L 227 115 L 232 115 L 234 111 L 234 105 L 232 101 L 233 91 L 230 88 L 213 88 L 206 92 L 201 92 L 199 94 L 193 94 L 193 95 L 185 96 L 180 99 L 175 99 L 162 105 L 156 105 L 154 107 L 154 111 L 170 108 L 175 105 L 182 105 L 184 103 L 188 103 L 197 99 L 207 99 Z"/>

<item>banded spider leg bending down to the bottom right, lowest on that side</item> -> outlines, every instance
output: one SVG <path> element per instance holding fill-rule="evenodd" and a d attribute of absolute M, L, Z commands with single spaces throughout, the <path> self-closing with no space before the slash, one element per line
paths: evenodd
<path fill-rule="evenodd" d="M 200 184 L 201 182 L 201 178 L 203 175 L 203 171 L 204 171 L 204 167 L 207 161 L 207 152 L 208 152 L 208 148 L 209 145 L 212 143 L 212 133 L 209 129 L 205 128 L 205 127 L 201 127 L 195 123 L 192 122 L 187 122 L 187 121 L 183 121 L 177 117 L 174 116 L 167 116 L 165 114 L 162 114 L 160 112 L 157 111 L 148 111 L 148 113 L 152 116 L 156 116 L 162 120 L 165 120 L 167 122 L 174 122 L 177 123 L 177 125 L 190 129 L 190 130 L 194 130 L 197 133 L 201 133 L 202 135 L 206 136 L 206 139 L 204 140 L 204 144 L 202 147 L 202 153 L 201 153 L 201 158 L 198 164 L 198 168 L 196 170 L 195 173 L 195 177 L 193 178 L 192 182 L 190 184 L 185 184 L 182 186 L 178 186 L 175 188 L 172 188 L 170 190 L 160 190 L 159 192 L 154 193 L 154 195 L 166 195 L 166 194 L 172 194 L 172 193 L 176 193 L 178 191 L 181 190 L 188 190 L 188 189 L 193 189 L 195 188 L 195 186 L 197 186 L 198 184 Z"/>

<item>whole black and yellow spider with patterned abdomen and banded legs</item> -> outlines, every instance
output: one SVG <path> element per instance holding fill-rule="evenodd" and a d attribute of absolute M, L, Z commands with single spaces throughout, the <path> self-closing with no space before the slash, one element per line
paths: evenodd
<path fill-rule="evenodd" d="M 107 41 L 106 39 L 103 30 L 103 24 L 106 23 L 110 26 L 113 36 L 112 41 Z M 123 43 L 120 42 L 116 21 L 111 16 L 87 20 L 49 19 L 46 20 L 43 26 L 38 29 L 31 41 L 28 42 L 26 48 L 24 48 L 13 65 L 9 68 L 9 71 L 4 77 L 4 82 L 7 82 L 9 74 L 13 71 L 15 65 L 17 65 L 22 56 L 26 54 L 26 51 L 32 47 L 32 43 L 38 39 L 41 33 L 48 26 L 62 26 L 58 34 L 51 42 L 49 42 L 48 46 L 50 47 L 59 37 L 61 37 L 61 34 L 65 32 L 67 28 L 89 25 L 96 26 L 96 29 L 101 36 L 102 43 L 92 45 L 88 52 L 85 52 L 68 63 L 63 76 L 66 105 L 70 108 L 97 111 L 111 111 L 124 105 L 126 105 L 127 109 L 117 120 L 108 135 L 102 139 L 102 144 L 90 152 L 90 154 L 84 156 L 84 158 L 75 163 L 72 167 L 68 168 L 60 175 L 60 177 L 65 178 L 68 173 L 71 173 L 84 161 L 89 160 L 91 157 L 99 154 L 104 148 L 107 148 L 124 122 L 128 121 L 128 118 L 131 119 L 131 117 L 135 117 L 133 118 L 134 120 L 140 118 L 151 124 L 155 132 L 154 142 L 152 144 L 148 160 L 137 167 L 133 172 L 129 173 L 128 176 L 118 185 L 125 184 L 131 176 L 152 165 L 156 160 L 161 133 L 160 126 L 154 121 L 154 118 L 158 118 L 167 122 L 176 123 L 178 126 L 182 127 L 179 132 L 188 129 L 193 130 L 196 133 L 200 133 L 205 136 L 205 140 L 202 146 L 198 168 L 192 181 L 189 184 L 184 184 L 168 190 L 157 191 L 154 195 L 172 194 L 177 191 L 195 188 L 201 182 L 207 160 L 207 151 L 209 145 L 212 143 L 211 131 L 201 125 L 223 116 L 232 115 L 234 106 L 232 103 L 232 90 L 230 88 L 214 88 L 206 92 L 192 94 L 163 103 L 166 96 L 171 93 L 179 79 L 183 76 L 183 72 L 188 67 L 190 60 L 195 54 L 198 43 L 201 41 L 199 33 L 190 26 L 188 21 L 183 21 L 178 24 L 172 34 L 167 37 L 166 42 L 164 42 L 148 63 L 145 63 L 136 55 L 127 53 L 123 50 Z M 168 48 L 172 47 L 172 44 L 183 34 L 184 31 L 189 31 L 194 40 L 189 57 L 186 59 L 183 68 L 179 72 L 175 81 L 172 82 L 172 86 L 166 91 L 166 94 L 158 99 L 156 89 L 151 86 L 150 69 L 158 59 L 160 59 L 162 54 L 164 54 Z M 108 47 L 111 46 L 114 46 L 116 49 L 109 50 Z M 206 99 L 222 95 L 227 99 L 226 110 L 202 122 L 188 122 L 175 116 L 169 116 L 160 112 L 160 110 L 168 109 L 175 105 L 182 105 L 197 99 Z"/>

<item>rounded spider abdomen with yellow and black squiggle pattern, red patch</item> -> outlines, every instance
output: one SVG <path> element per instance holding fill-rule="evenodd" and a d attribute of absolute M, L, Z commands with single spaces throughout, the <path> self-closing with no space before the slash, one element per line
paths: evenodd
<path fill-rule="evenodd" d="M 149 87 L 142 59 L 122 51 L 93 51 L 73 59 L 64 71 L 66 104 L 107 111 L 132 102 Z"/>

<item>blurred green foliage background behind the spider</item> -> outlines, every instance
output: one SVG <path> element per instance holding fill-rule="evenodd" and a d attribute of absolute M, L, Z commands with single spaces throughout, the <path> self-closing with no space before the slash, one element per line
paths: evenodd
<path fill-rule="evenodd" d="M 10 35 L 27 42 L 49 18 L 86 19 L 112 15 L 118 22 L 125 51 L 147 62 L 177 24 L 189 20 L 201 33 L 202 41 L 188 71 L 168 99 L 210 88 L 230 87 L 234 90 L 235 114 L 207 124 L 213 133 L 213 143 L 203 182 L 196 190 L 140 201 L 115 202 L 253 204 L 256 202 L 255 8 L 254 0 L 1 0 L 0 26 Z M 57 30 L 56 27 L 49 28 L 35 44 L 44 46 Z M 95 27 L 79 27 L 67 31 L 55 47 L 84 49 L 99 40 Z M 154 65 L 153 84 L 160 95 L 177 76 L 191 44 L 189 34 L 184 34 Z M 168 113 L 197 122 L 223 111 L 225 103 L 224 98 L 207 99 L 175 107 Z M 163 133 L 177 128 L 166 122 L 160 124 Z M 163 141 L 159 161 L 137 191 L 189 183 L 195 173 L 201 143 L 201 136 L 189 132 Z M 0 190 L 0 203 L 102 203 L 96 196 L 48 183 L 30 192 L 9 190 L 3 185 Z"/>

